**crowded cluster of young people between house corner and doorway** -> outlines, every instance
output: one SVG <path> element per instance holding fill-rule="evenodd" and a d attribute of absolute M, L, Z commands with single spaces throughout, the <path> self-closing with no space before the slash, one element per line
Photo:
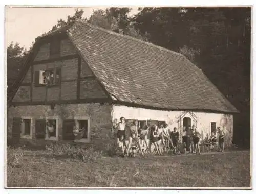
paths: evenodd
<path fill-rule="evenodd" d="M 115 149 L 121 147 L 124 156 L 134 157 L 138 149 L 142 155 L 145 151 L 151 152 L 152 144 L 156 152 L 162 155 L 163 151 L 176 147 L 179 140 L 177 128 L 170 132 L 166 123 L 160 124 L 159 127 L 156 125 L 148 127 L 147 125 L 138 126 L 138 122 L 134 120 L 133 125 L 127 129 L 124 117 L 120 118 L 119 123 L 114 120 L 112 132 L 116 137 Z"/>

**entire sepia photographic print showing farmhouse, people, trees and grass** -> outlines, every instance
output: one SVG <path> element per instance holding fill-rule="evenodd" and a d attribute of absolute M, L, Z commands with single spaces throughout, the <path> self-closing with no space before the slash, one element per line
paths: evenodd
<path fill-rule="evenodd" d="M 5 7 L 6 188 L 251 188 L 251 7 Z"/>

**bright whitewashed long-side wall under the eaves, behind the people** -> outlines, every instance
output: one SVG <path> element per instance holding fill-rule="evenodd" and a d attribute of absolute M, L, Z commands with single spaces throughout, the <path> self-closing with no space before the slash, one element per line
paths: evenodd
<path fill-rule="evenodd" d="M 178 117 L 184 111 L 163 111 L 151 110 L 144 108 L 126 107 L 122 105 L 112 105 L 111 116 L 114 119 L 120 119 L 121 116 L 125 119 L 138 119 L 138 120 L 162 120 L 165 121 L 171 130 L 174 127 L 178 128 Z M 216 122 L 216 127 L 221 127 L 226 133 L 226 146 L 231 146 L 233 137 L 233 115 L 207 113 L 207 112 L 193 112 L 197 117 L 197 129 L 202 134 L 202 139 L 208 133 L 210 135 L 211 122 Z M 193 125 L 193 116 L 186 113 L 184 117 L 191 118 L 191 125 Z M 182 122 L 181 122 L 182 123 Z M 218 135 L 218 134 L 217 134 Z"/>

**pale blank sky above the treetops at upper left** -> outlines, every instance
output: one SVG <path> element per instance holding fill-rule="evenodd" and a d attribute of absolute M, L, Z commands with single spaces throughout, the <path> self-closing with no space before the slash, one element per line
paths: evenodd
<path fill-rule="evenodd" d="M 37 36 L 48 32 L 57 24 L 58 19 L 67 20 L 68 15 L 73 16 L 77 7 L 61 8 L 23 8 L 6 7 L 5 30 L 6 47 L 11 41 L 19 42 L 20 46 L 29 48 Z M 108 7 L 78 7 L 83 9 L 83 17 L 89 18 L 93 10 L 106 9 Z M 138 13 L 138 7 L 130 7 L 130 15 Z"/>

